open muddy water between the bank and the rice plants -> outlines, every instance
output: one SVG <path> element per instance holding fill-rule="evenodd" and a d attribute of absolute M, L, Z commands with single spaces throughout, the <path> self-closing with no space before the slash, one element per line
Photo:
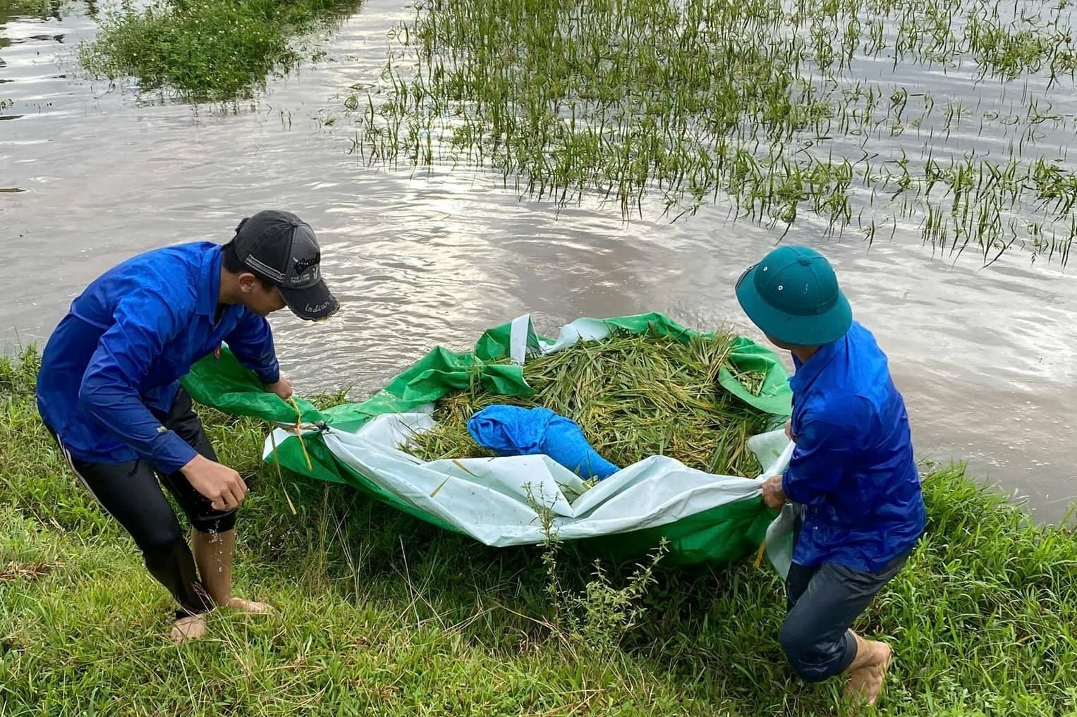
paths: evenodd
<path fill-rule="evenodd" d="M 75 46 L 97 28 L 82 3 L 47 19 L 4 12 L 8 351 L 43 345 L 70 300 L 112 264 L 172 242 L 224 241 L 267 207 L 316 227 L 324 273 L 344 301 L 322 325 L 271 319 L 300 392 L 351 385 L 361 398 L 433 345 L 467 348 L 524 312 L 547 332 L 577 317 L 662 311 L 759 338 L 732 284 L 779 235 L 728 221 L 728 207 L 626 224 L 616 207 L 589 198 L 561 212 L 521 200 L 480 170 L 387 170 L 349 153 L 342 93 L 376 80 L 387 32 L 411 12 L 402 3 L 372 0 L 332 37 L 324 59 L 229 113 L 145 102 L 132 86 L 79 76 Z M 941 82 L 962 90 L 960 76 Z M 1037 518 L 1061 518 L 1077 497 L 1073 270 L 1020 250 L 983 268 L 974 254 L 925 247 L 914 223 L 870 248 L 821 236 L 820 224 L 801 222 L 785 240 L 835 263 L 856 318 L 890 356 L 920 458 L 967 460 L 976 475 L 1027 497 Z"/>

